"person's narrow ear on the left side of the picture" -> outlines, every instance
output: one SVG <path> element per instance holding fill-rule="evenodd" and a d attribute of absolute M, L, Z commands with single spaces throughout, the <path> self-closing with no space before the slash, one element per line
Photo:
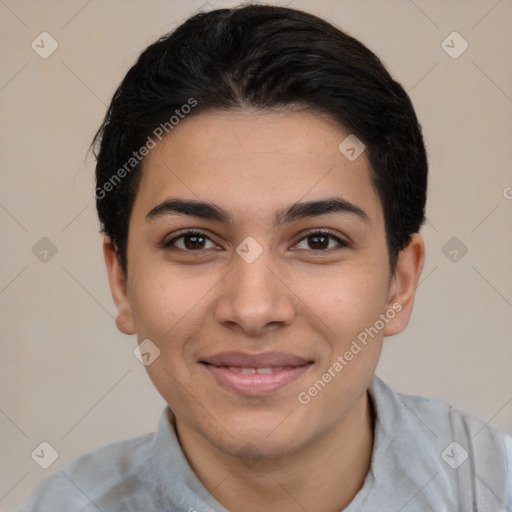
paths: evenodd
<path fill-rule="evenodd" d="M 135 334 L 135 321 L 127 293 L 126 279 L 117 259 L 117 247 L 109 236 L 103 239 L 103 255 L 107 266 L 110 291 L 117 307 L 117 328 L 124 334 Z"/>

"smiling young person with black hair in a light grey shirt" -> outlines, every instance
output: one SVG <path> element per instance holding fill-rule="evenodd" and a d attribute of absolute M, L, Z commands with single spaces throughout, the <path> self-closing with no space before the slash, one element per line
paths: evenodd
<path fill-rule="evenodd" d="M 509 435 L 374 375 L 413 310 L 427 157 L 370 50 L 293 9 L 197 14 L 95 142 L 116 323 L 168 407 L 20 512 L 510 510 Z"/>

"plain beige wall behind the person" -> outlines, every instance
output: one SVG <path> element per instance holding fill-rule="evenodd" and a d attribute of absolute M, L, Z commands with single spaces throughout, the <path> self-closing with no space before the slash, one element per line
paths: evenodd
<path fill-rule="evenodd" d="M 2 510 L 78 454 L 156 428 L 164 402 L 114 324 L 86 151 L 141 50 L 199 8 L 234 3 L 0 1 Z M 424 127 L 423 281 L 378 375 L 512 431 L 512 2 L 278 3 L 374 50 Z M 31 48 L 43 31 L 59 45 L 47 59 Z M 441 47 L 453 31 L 469 43 L 457 59 Z M 442 251 L 454 236 L 468 248 L 455 263 Z M 57 247 L 47 262 L 32 252 L 42 237 Z M 59 453 L 47 470 L 30 456 L 41 441 Z"/>

